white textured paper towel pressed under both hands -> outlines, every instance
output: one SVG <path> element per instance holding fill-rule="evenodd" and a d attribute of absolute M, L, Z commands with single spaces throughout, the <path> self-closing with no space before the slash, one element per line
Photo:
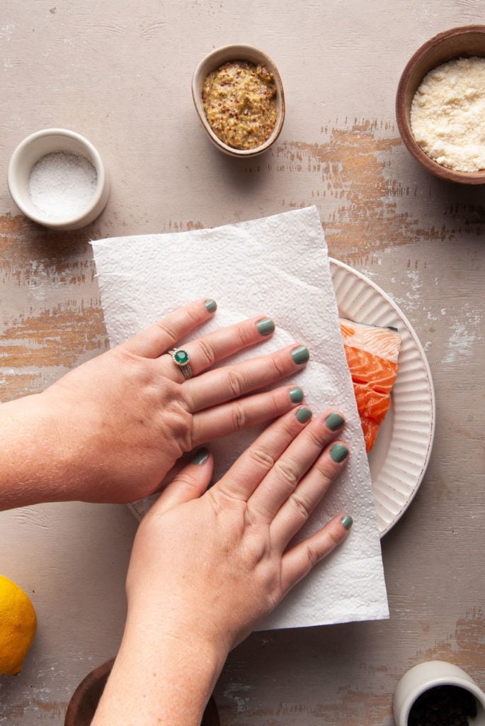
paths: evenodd
<path fill-rule="evenodd" d="M 306 532 L 335 513 L 352 514 L 341 547 L 323 560 L 268 617 L 260 629 L 303 627 L 389 616 L 381 545 L 368 460 L 341 343 L 328 250 L 315 207 L 172 234 L 113 237 L 92 243 L 104 319 L 112 346 L 196 298 L 217 301 L 215 317 L 191 337 L 266 314 L 276 323 L 271 340 L 235 360 L 304 343 L 310 362 L 292 381 L 313 412 L 345 412 L 343 439 L 351 456 Z M 211 442 L 215 478 L 257 431 Z M 138 510 L 149 506 L 138 502 Z"/>

